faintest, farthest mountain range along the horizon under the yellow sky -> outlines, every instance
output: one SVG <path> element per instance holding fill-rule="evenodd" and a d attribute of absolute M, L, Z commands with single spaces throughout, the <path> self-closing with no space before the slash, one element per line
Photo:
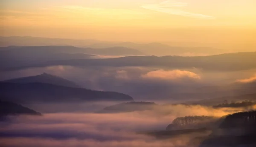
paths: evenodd
<path fill-rule="evenodd" d="M 132 43 L 132 42 L 108 42 L 100 40 L 76 40 L 61 38 L 45 38 L 30 36 L 0 37 L 0 46 L 84 46 L 86 48 L 113 48 L 122 46 L 136 49 L 147 55 L 213 55 L 227 52 L 227 49 L 214 49 L 210 47 L 186 47 L 169 46 L 163 43 Z M 108 52 L 109 54 L 109 52 Z"/>

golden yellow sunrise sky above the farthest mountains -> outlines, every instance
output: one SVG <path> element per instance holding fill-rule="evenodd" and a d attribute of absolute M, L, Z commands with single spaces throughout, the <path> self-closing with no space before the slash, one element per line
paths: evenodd
<path fill-rule="evenodd" d="M 0 36 L 253 42 L 256 0 L 0 0 Z"/>

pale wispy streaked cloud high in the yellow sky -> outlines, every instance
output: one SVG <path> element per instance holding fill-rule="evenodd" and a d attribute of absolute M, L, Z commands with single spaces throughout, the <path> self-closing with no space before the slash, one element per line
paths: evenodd
<path fill-rule="evenodd" d="M 183 2 L 177 2 L 173 0 L 166 0 L 159 4 L 148 4 L 141 6 L 144 9 L 149 9 L 157 12 L 172 14 L 172 15 L 180 15 L 184 17 L 192 17 L 192 18 L 198 18 L 198 19 L 215 19 L 215 17 L 204 15 L 204 14 L 198 14 L 193 12 L 186 12 L 181 9 L 175 9 L 175 7 L 185 7 L 188 3 Z"/>

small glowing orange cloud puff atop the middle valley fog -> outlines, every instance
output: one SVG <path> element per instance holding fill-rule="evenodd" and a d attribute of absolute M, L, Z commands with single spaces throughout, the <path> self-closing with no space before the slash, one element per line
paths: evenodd
<path fill-rule="evenodd" d="M 145 75 L 142 75 L 143 78 L 159 78 L 164 80 L 176 80 L 180 78 L 192 78 L 200 79 L 201 77 L 194 73 L 185 70 L 169 70 L 165 71 L 163 69 L 148 72 Z"/>

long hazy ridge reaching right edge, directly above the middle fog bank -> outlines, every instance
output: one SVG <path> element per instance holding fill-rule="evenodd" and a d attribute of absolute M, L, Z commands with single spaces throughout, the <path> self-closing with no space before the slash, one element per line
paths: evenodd
<path fill-rule="evenodd" d="M 204 70 L 236 71 L 256 68 L 256 52 L 240 52 L 202 57 L 181 56 L 129 56 L 122 58 L 97 59 L 97 60 L 65 60 L 49 61 L 31 66 L 166 66 L 174 69 L 198 68 Z M 12 67 L 12 66 L 11 66 Z M 9 67 L 9 69 L 12 69 Z M 24 67 L 24 68 L 25 68 Z"/>

